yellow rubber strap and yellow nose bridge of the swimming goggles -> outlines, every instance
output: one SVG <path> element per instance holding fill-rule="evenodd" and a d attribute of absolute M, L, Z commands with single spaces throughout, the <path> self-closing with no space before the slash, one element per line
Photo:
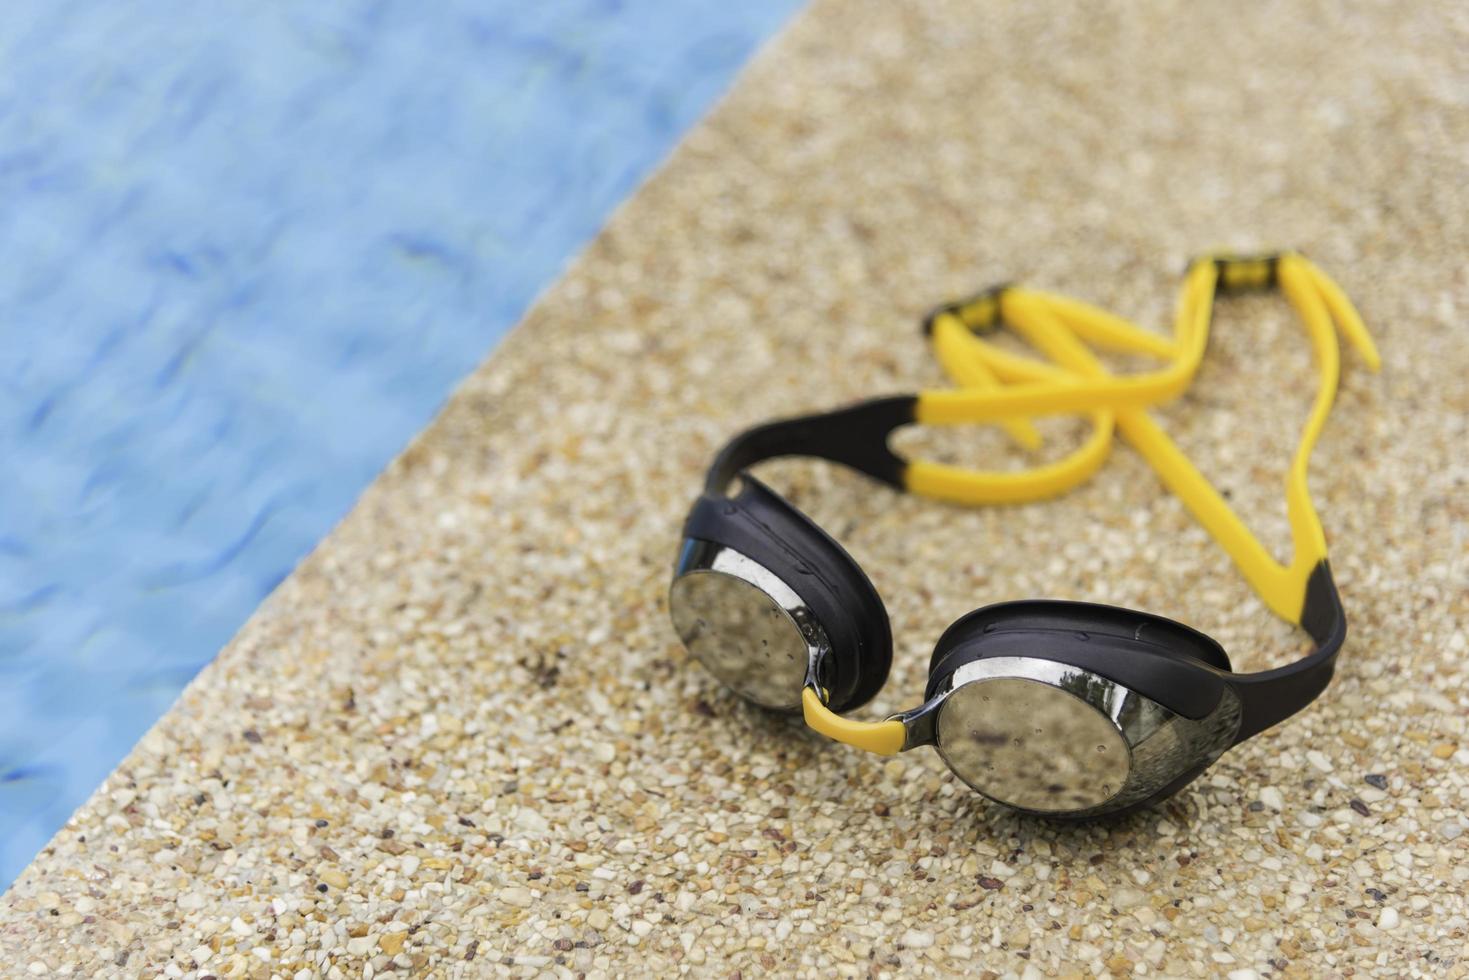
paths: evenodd
<path fill-rule="evenodd" d="M 1221 288 L 1265 287 L 1272 281 L 1304 323 L 1321 376 L 1285 475 L 1293 545 L 1290 564 L 1275 561 L 1146 411 L 1147 406 L 1183 394 L 1197 373 L 1208 347 L 1215 294 Z M 977 335 L 1000 323 L 1014 328 L 1049 361 L 1008 353 Z M 1219 542 L 1271 611 L 1299 624 L 1307 579 L 1327 557 L 1327 538 L 1310 501 L 1306 469 L 1337 394 L 1341 373 L 1337 331 L 1357 348 L 1371 370 L 1379 369 L 1376 345 L 1351 301 L 1325 272 L 1294 253 L 1253 259 L 1209 257 L 1193 263 L 1184 279 L 1171 339 L 1061 295 L 1022 288 L 984 294 L 933 317 L 934 353 L 956 388 L 920 394 L 917 422 L 1000 422 L 1012 436 L 1027 444 L 1034 436 L 1034 429 L 1025 423 L 1027 416 L 1086 413 L 1091 420 L 1091 433 L 1078 450 L 1061 460 L 1019 472 L 971 470 L 914 460 L 905 472 L 905 485 L 911 492 L 962 504 L 1053 497 L 1081 483 L 1102 466 L 1112 447 L 1112 435 L 1119 429 Z M 1150 354 L 1166 363 L 1155 372 L 1118 376 L 1105 367 L 1089 342 L 1111 351 Z M 903 746 L 900 721 L 842 718 L 814 691 L 805 692 L 804 714 L 812 729 L 871 752 L 890 755 Z"/>

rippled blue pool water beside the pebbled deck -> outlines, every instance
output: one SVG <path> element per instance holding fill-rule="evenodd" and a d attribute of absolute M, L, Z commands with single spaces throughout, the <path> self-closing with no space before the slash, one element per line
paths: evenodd
<path fill-rule="evenodd" d="M 798 6 L 0 6 L 0 887 Z"/>

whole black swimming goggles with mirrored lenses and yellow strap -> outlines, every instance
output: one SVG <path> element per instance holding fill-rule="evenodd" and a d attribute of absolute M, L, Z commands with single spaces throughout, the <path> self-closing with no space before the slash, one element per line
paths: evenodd
<path fill-rule="evenodd" d="M 1147 413 L 1191 383 L 1215 295 L 1266 287 L 1278 287 L 1294 307 L 1319 372 L 1285 476 L 1288 564 L 1265 550 Z M 1044 360 L 986 339 L 1002 326 Z M 955 776 L 989 799 L 1064 818 L 1165 799 L 1327 688 L 1346 616 L 1306 467 L 1337 394 L 1337 332 L 1372 370 L 1379 359 L 1351 303 L 1321 269 L 1296 253 L 1197 260 L 1185 273 L 1171 338 L 1021 287 L 940 307 L 925 329 L 955 388 L 761 425 L 715 457 L 683 527 L 668 599 L 679 638 L 710 673 L 758 705 L 801 710 L 809 727 L 870 752 L 933 745 Z M 1152 356 L 1162 367 L 1116 375 L 1097 350 Z M 1062 413 L 1087 416 L 1090 435 L 1064 458 L 1021 472 L 903 458 L 889 445 L 902 426 L 981 422 L 1033 445 L 1028 419 Z M 852 557 L 748 467 L 809 455 L 924 497 L 1019 502 L 1086 480 L 1116 432 L 1271 611 L 1306 630 L 1312 652 L 1275 670 L 1234 673 L 1218 642 L 1162 616 L 1056 599 L 1000 602 L 964 616 L 939 638 L 923 704 L 881 721 L 843 717 L 887 679 L 887 613 Z"/>

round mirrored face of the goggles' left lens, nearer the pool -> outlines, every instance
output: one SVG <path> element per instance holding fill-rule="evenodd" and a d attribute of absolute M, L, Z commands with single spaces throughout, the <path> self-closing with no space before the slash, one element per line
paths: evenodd
<path fill-rule="evenodd" d="M 673 627 L 710 673 L 767 708 L 801 705 L 806 641 L 758 588 L 720 572 L 690 572 L 668 595 Z"/>

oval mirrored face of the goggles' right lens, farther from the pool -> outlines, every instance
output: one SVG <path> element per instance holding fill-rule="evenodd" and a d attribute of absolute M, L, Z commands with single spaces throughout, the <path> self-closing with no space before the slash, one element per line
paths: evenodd
<path fill-rule="evenodd" d="M 1086 810 L 1127 782 L 1112 720 L 1061 688 L 996 677 L 956 689 L 939 711 L 939 752 L 990 799 L 1040 813 Z"/>

